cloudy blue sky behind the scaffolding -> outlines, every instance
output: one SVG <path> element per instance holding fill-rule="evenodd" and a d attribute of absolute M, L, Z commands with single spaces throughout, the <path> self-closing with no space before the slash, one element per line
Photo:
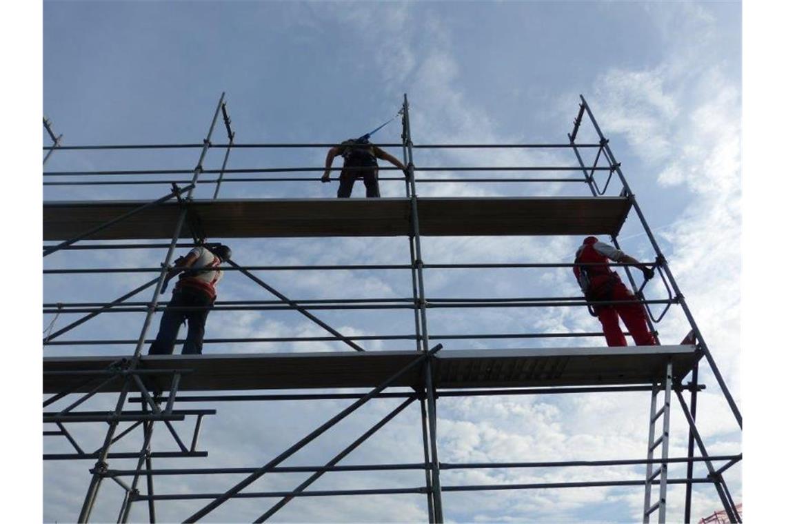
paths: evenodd
<path fill-rule="evenodd" d="M 612 150 L 666 255 L 681 291 L 741 409 L 741 89 L 742 38 L 739 2 L 43 2 L 42 109 L 67 145 L 200 142 L 215 104 L 226 92 L 237 142 L 341 141 L 391 118 L 410 101 L 416 143 L 564 143 L 583 94 L 610 138 Z M 597 137 L 582 126 L 579 139 Z M 217 137 L 226 140 L 222 126 Z M 399 123 L 374 137 L 400 140 Z M 44 137 L 44 143 L 48 140 Z M 214 139 L 217 141 L 218 138 Z M 401 148 L 387 148 L 401 156 Z M 235 150 L 229 166 L 318 167 L 323 148 Z M 189 169 L 196 150 L 178 152 L 55 152 L 46 170 Z M 416 150 L 417 167 L 575 165 L 555 152 Z M 206 167 L 220 167 L 214 150 Z M 450 173 L 440 174 L 448 176 Z M 452 174 L 460 177 L 461 172 Z M 421 174 L 418 175 L 419 177 Z M 422 174 L 432 178 L 431 173 Z M 128 178 L 128 177 L 124 177 Z M 182 179 L 188 178 L 182 176 Z M 152 179 L 152 177 L 151 177 Z M 159 177 L 159 179 L 161 179 Z M 46 178 L 47 181 L 50 178 Z M 404 196 L 400 181 L 383 181 L 383 196 Z M 145 200 L 167 185 L 47 186 L 46 200 Z M 213 186 L 196 189 L 210 198 Z M 314 197 L 335 195 L 336 183 L 318 181 L 222 185 L 222 197 Z M 609 194 L 618 194 L 612 183 Z M 586 196 L 579 184 L 418 185 L 421 196 Z M 362 186 L 355 189 L 362 196 Z M 214 239 L 217 240 L 217 239 Z M 424 238 L 424 261 L 571 262 L 581 237 Z M 603 240 L 603 239 L 602 239 Z M 630 255 L 652 261 L 637 221 L 619 236 Z M 241 265 L 406 263 L 406 240 L 232 240 Z M 56 267 L 156 267 L 163 251 L 59 253 L 44 261 Z M 494 298 L 575 296 L 566 269 L 426 271 L 428 297 Z M 261 272 L 293 299 L 399 298 L 411 295 L 406 272 Z M 46 276 L 44 302 L 115 299 L 147 280 L 125 273 L 111 277 Z M 144 280 L 143 280 L 144 279 Z M 654 283 L 653 283 L 654 284 Z M 512 291 L 514 290 L 514 291 Z M 652 298 L 664 290 L 648 288 Z M 148 299 L 145 297 L 144 299 Z M 270 299 L 228 274 L 219 299 Z M 134 339 L 141 313 L 105 315 L 64 339 Z M 341 332 L 387 335 L 412 332 L 409 310 L 320 312 Z M 45 316 L 43 327 L 52 320 Z M 586 310 L 429 310 L 433 334 L 594 332 Z M 149 336 L 155 334 L 158 317 Z M 64 325 L 64 318 L 56 321 Z M 678 343 L 687 324 L 676 308 L 659 324 L 663 343 Z M 296 313 L 214 312 L 209 338 L 311 336 L 321 330 Z M 578 339 L 582 346 L 602 339 Z M 549 339 L 446 343 L 446 349 L 556 345 Z M 45 354 L 129 354 L 132 346 L 50 346 Z M 206 345 L 206 353 L 341 350 L 340 344 L 288 343 Z M 369 350 L 407 349 L 400 341 L 369 343 Z M 740 438 L 729 409 L 706 365 L 701 380 L 700 429 L 713 454 L 737 453 Z M 97 399 L 112 402 L 112 399 Z M 216 405 L 204 423 L 202 449 L 210 456 L 187 466 L 261 465 L 337 412 L 339 401 Z M 191 407 L 191 406 L 189 406 Z M 213 407 L 213 406 L 206 406 Z M 391 401 L 367 406 L 318 441 L 291 464 L 319 464 L 392 409 Z M 99 408 L 96 408 L 99 409 Z M 673 412 L 671 453 L 684 456 L 686 425 Z M 439 458 L 444 462 L 632 458 L 645 455 L 648 394 L 443 398 L 439 401 Z M 415 406 L 351 456 L 351 464 L 422 459 Z M 376 417 L 376 419 L 375 419 Z M 609 423 L 604 423 L 605 421 Z M 75 428 L 86 442 L 103 430 Z M 185 431 L 185 430 L 184 430 Z M 97 447 L 98 444 L 95 445 Z M 134 442 L 135 445 L 135 442 Z M 171 448 L 157 434 L 156 449 Z M 90 445 L 87 445 L 90 447 Z M 46 453 L 67 446 L 43 442 Z M 133 449 L 133 446 L 130 447 Z M 121 463 L 122 464 L 122 463 Z M 290 464 L 290 463 L 287 463 Z M 42 519 L 76 518 L 91 464 L 43 465 Z M 674 467 L 670 475 L 682 476 Z M 699 471 L 703 471 L 699 468 Z M 326 475 L 314 489 L 420 486 L 422 474 Z M 610 471 L 450 471 L 443 484 L 560 482 L 640 478 L 643 469 Z M 240 478 L 161 478 L 158 493 L 222 491 Z M 299 475 L 270 475 L 255 490 L 291 489 Z M 741 500 L 740 468 L 726 477 Z M 641 519 L 641 489 L 552 489 L 443 495 L 449 522 L 634 522 Z M 684 491 L 669 489 L 669 519 L 681 519 Z M 747 493 L 747 492 L 746 492 Z M 105 482 L 94 519 L 116 519 L 120 489 Z M 233 500 L 205 522 L 252 520 L 267 500 Z M 164 521 L 182 520 L 192 503 L 161 503 Z M 720 508 L 714 490 L 697 487 L 693 517 Z M 132 519 L 145 519 L 141 504 Z M 296 500 L 274 522 L 413 522 L 424 519 L 424 497 L 339 497 Z"/>

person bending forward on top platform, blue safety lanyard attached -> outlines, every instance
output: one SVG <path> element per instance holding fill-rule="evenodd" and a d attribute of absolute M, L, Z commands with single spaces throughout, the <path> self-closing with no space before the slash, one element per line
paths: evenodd
<path fill-rule="evenodd" d="M 404 171 L 406 176 L 406 166 L 399 159 L 382 149 L 371 144 L 367 138 L 357 138 L 345 140 L 341 145 L 330 148 L 328 156 L 325 157 L 325 174 L 322 175 L 323 182 L 330 181 L 330 169 L 333 159 L 336 156 L 343 156 L 344 163 L 339 177 L 339 198 L 349 198 L 352 194 L 352 186 L 358 178 L 363 179 L 365 184 L 366 198 L 380 197 L 379 166 L 376 159 L 380 158 L 392 163 L 395 167 Z"/>

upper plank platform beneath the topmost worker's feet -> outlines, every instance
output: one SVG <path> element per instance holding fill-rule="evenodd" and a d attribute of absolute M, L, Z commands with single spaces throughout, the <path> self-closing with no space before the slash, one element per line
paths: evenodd
<path fill-rule="evenodd" d="M 70 240 L 145 205 L 143 201 L 48 202 L 44 240 Z M 403 236 L 412 232 L 411 202 L 381 199 L 194 200 L 208 238 L 260 236 Z M 615 235 L 630 200 L 623 197 L 419 198 L 421 235 Z M 90 239 L 171 238 L 178 203 L 161 203 Z M 183 229 L 182 236 L 188 236 Z"/>

